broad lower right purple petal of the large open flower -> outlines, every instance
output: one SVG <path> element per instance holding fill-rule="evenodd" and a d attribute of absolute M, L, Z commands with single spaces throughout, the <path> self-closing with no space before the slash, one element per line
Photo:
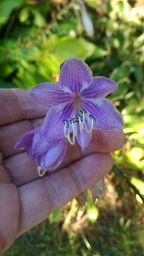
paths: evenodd
<path fill-rule="evenodd" d="M 82 107 L 94 116 L 95 129 L 122 129 L 123 119 L 115 106 L 107 99 L 83 100 Z"/>

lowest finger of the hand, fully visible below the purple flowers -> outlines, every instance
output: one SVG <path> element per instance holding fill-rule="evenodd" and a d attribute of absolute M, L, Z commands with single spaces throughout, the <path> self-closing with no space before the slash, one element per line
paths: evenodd
<path fill-rule="evenodd" d="M 18 188 L 22 207 L 18 236 L 102 179 L 112 164 L 108 154 L 92 154 L 66 169 Z"/>

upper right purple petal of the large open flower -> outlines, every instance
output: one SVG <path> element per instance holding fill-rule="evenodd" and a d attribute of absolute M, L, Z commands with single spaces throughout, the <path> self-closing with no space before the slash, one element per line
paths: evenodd
<path fill-rule="evenodd" d="M 83 98 L 105 97 L 111 92 L 117 90 L 117 83 L 106 77 L 93 77 L 89 88 L 82 90 L 80 96 Z"/>

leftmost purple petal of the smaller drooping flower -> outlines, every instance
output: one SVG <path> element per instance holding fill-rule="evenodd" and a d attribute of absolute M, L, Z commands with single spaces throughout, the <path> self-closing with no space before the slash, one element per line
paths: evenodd
<path fill-rule="evenodd" d="M 29 132 L 26 132 L 20 139 L 18 140 L 17 144 L 15 145 L 16 149 L 24 149 L 27 152 L 29 157 L 33 158 L 32 155 L 32 140 L 34 137 L 34 132 L 38 131 L 39 128 L 33 129 Z"/>

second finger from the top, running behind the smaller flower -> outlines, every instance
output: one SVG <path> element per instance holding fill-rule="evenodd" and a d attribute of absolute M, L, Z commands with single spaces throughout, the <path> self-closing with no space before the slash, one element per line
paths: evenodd
<path fill-rule="evenodd" d="M 18 139 L 25 132 L 42 125 L 43 122 L 44 118 L 36 118 L 0 127 L 0 151 L 3 153 L 3 157 L 6 158 L 20 153 L 20 150 L 15 149 Z"/>

